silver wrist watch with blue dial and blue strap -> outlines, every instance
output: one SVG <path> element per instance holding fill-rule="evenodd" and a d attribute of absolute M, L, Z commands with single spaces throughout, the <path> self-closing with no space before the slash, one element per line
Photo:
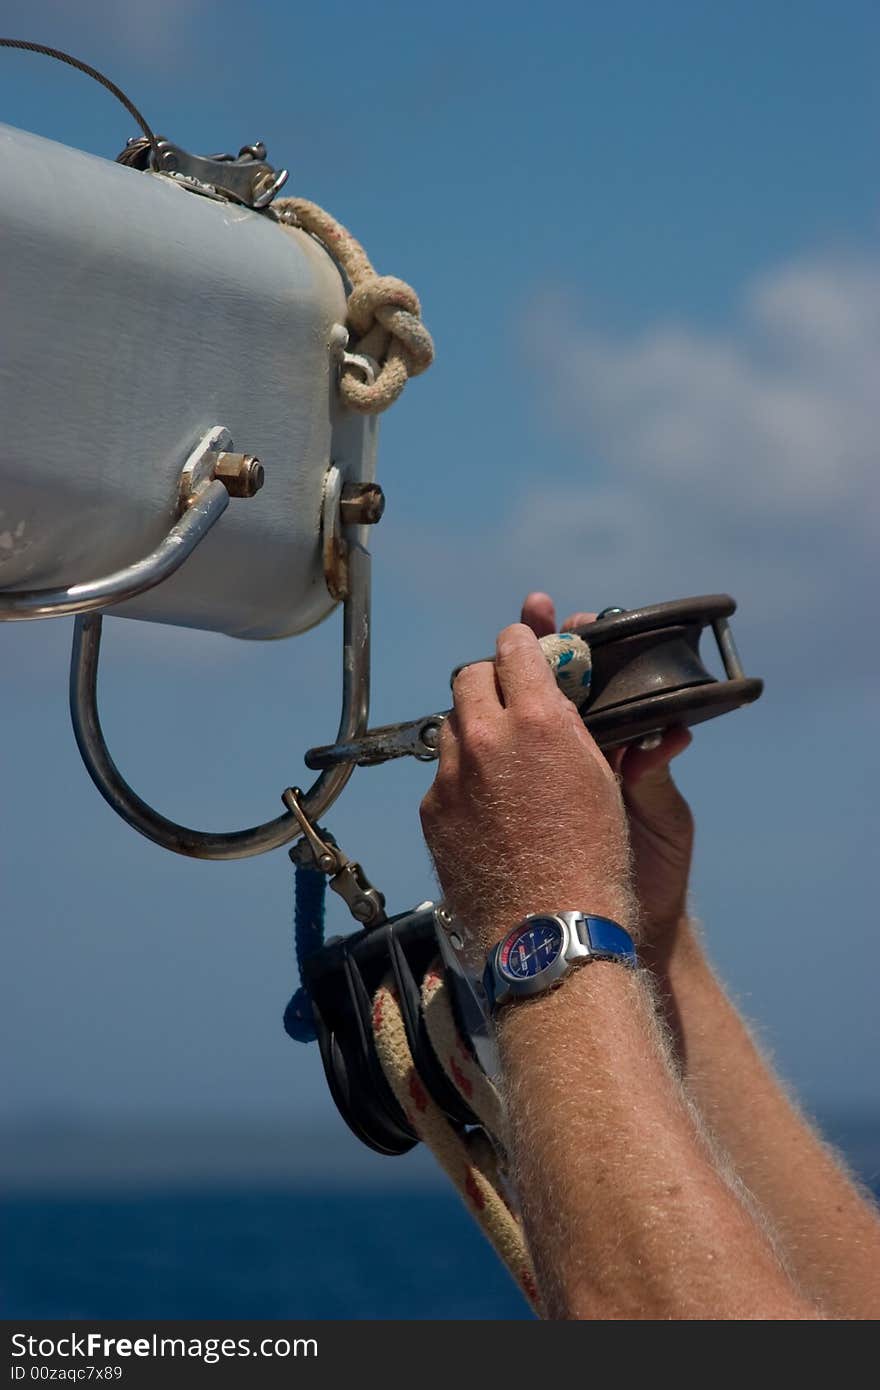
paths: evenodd
<path fill-rule="evenodd" d="M 492 1012 L 512 999 L 545 994 L 581 960 L 638 963 L 633 937 L 587 912 L 532 912 L 489 952 L 482 987 Z"/>

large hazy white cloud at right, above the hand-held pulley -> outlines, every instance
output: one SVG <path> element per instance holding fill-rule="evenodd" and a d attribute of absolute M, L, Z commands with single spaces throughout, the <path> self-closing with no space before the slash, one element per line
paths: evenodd
<path fill-rule="evenodd" d="M 588 474 L 566 468 L 521 496 L 509 553 L 532 573 L 545 557 L 548 585 L 567 589 L 580 556 L 605 602 L 731 589 L 765 626 L 869 612 L 877 261 L 784 265 L 745 286 L 723 332 L 659 324 L 614 339 L 555 293 L 525 327 L 555 427 Z"/>

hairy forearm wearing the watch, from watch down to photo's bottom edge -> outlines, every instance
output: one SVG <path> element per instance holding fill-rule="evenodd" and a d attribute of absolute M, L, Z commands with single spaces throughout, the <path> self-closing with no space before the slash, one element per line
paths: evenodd
<path fill-rule="evenodd" d="M 812 1318 L 667 1065 L 639 973 L 506 1011 L 516 1187 L 556 1318 Z"/>

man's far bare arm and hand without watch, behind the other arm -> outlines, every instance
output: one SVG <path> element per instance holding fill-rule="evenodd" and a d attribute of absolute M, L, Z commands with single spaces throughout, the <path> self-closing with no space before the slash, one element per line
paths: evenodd
<path fill-rule="evenodd" d="M 574 613 L 564 627 L 592 617 Z M 538 635 L 556 627 L 546 595 L 530 595 L 523 619 Z M 685 730 L 671 730 L 658 749 L 612 755 L 634 855 L 641 956 L 667 1015 L 687 1094 L 776 1230 L 795 1279 L 827 1316 L 877 1318 L 876 1207 L 785 1094 L 687 913 L 694 820 L 669 762 L 688 742 Z"/>

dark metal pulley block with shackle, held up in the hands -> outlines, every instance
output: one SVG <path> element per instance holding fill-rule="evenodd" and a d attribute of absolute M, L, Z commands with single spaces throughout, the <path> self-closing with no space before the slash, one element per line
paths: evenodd
<path fill-rule="evenodd" d="M 758 699 L 763 681 L 742 670 L 728 624 L 735 609 L 727 594 L 708 594 L 630 612 L 606 609 L 595 623 L 574 630 L 592 657 L 589 696 L 581 714 L 601 748 L 651 738 L 674 724 L 701 724 Z M 724 680 L 702 660 L 706 628 L 716 639 Z M 367 767 L 406 756 L 430 762 L 438 756 L 439 730 L 449 714 L 439 710 L 367 730 L 345 744 L 311 748 L 306 766 L 328 769 L 353 762 Z"/>

